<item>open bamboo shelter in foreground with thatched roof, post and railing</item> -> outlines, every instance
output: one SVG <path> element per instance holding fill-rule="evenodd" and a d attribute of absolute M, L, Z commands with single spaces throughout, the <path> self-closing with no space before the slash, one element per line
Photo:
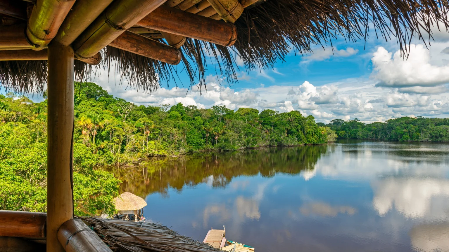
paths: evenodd
<path fill-rule="evenodd" d="M 202 89 L 208 59 L 233 83 L 236 57 L 246 71 L 269 68 L 292 50 L 367 39 L 370 29 L 408 55 L 405 45 L 448 30 L 448 8 L 448 0 L 0 0 L 0 87 L 48 91 L 47 214 L 2 213 L 0 236 L 45 239 L 48 252 L 111 251 L 73 218 L 74 80 L 108 68 L 153 92 L 183 70 Z"/>

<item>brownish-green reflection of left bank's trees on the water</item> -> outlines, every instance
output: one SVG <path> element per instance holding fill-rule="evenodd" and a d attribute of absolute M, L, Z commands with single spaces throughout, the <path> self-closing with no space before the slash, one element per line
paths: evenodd
<path fill-rule="evenodd" d="M 226 187 L 241 175 L 273 177 L 277 173 L 299 174 L 313 170 L 328 145 L 273 147 L 235 152 L 199 152 L 177 157 L 151 157 L 140 166 L 109 167 L 123 183 L 120 193 L 130 191 L 145 198 L 158 192 L 168 196 L 169 187 L 179 192 L 185 186 L 211 183 Z"/>

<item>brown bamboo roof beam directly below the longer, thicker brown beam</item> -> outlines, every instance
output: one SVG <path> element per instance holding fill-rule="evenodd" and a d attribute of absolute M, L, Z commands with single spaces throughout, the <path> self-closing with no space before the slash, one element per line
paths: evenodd
<path fill-rule="evenodd" d="M 181 52 L 176 48 L 130 31 L 125 31 L 109 45 L 171 65 L 178 65 L 181 61 Z"/>

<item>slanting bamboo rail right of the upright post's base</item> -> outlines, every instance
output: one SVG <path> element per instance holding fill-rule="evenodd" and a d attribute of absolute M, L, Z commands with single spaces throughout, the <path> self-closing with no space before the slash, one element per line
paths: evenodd
<path fill-rule="evenodd" d="M 66 252 L 112 252 L 80 219 L 64 222 L 58 230 L 57 237 Z"/>

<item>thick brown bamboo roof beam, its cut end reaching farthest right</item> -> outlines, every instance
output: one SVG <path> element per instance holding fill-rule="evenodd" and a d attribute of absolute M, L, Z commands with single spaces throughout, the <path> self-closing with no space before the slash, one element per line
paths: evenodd
<path fill-rule="evenodd" d="M 223 46 L 237 39 L 237 29 L 231 23 L 201 17 L 179 9 L 161 6 L 137 22 L 137 25 Z"/>

